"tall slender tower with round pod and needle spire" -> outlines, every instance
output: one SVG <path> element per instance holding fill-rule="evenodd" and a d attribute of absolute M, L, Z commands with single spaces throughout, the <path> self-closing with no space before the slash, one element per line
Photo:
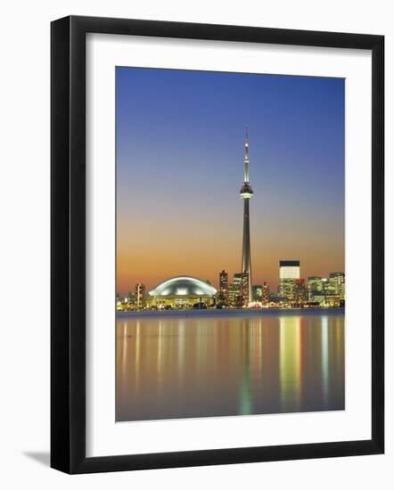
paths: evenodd
<path fill-rule="evenodd" d="M 250 222 L 249 222 L 249 201 L 253 197 L 253 191 L 249 184 L 249 135 L 246 128 L 245 135 L 245 158 L 243 160 L 243 185 L 240 195 L 243 200 L 243 240 L 242 240 L 242 273 L 248 274 L 249 303 L 252 300 L 251 294 L 251 264 L 250 264 Z"/>

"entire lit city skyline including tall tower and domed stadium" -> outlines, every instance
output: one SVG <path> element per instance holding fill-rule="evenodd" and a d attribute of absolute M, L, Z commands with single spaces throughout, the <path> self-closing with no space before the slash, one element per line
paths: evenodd
<path fill-rule="evenodd" d="M 249 182 L 249 134 L 246 131 L 243 159 L 242 272 L 235 273 L 233 282 L 225 269 L 218 274 L 218 290 L 209 281 L 183 275 L 160 282 L 146 293 L 143 283 L 135 284 L 134 294 L 120 298 L 118 311 L 177 310 L 177 309 L 247 309 L 247 308 L 319 308 L 345 306 L 345 274 L 332 272 L 328 278 L 300 275 L 300 260 L 280 260 L 278 287 L 271 291 L 267 282 L 252 283 L 250 259 L 250 199 L 253 190 Z"/>

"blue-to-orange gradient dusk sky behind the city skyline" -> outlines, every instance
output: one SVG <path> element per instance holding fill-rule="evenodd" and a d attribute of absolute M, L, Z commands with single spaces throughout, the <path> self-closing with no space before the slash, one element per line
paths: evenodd
<path fill-rule="evenodd" d="M 344 271 L 344 84 L 117 68 L 118 292 L 240 271 L 247 126 L 253 283 Z"/>

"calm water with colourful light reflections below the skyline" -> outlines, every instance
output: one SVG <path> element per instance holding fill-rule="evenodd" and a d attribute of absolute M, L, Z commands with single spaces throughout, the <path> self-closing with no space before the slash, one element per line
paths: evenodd
<path fill-rule="evenodd" d="M 344 409 L 343 310 L 117 317 L 117 421 Z"/>

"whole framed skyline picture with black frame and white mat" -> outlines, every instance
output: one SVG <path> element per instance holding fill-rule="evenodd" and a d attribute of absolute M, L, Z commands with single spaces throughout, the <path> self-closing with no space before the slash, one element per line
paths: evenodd
<path fill-rule="evenodd" d="M 51 465 L 384 451 L 384 38 L 52 23 Z"/>

